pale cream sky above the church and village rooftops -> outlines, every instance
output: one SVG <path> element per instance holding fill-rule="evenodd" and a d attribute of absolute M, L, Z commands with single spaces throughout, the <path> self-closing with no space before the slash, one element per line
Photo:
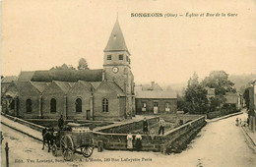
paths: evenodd
<path fill-rule="evenodd" d="M 1 73 L 48 70 L 63 63 L 102 69 L 118 15 L 135 83 L 182 83 L 196 72 L 256 73 L 254 0 L 3 0 Z M 161 13 L 163 17 L 131 17 Z M 164 18 L 165 14 L 183 17 Z M 203 14 L 204 17 L 185 17 Z M 230 13 L 236 17 L 206 17 Z"/>

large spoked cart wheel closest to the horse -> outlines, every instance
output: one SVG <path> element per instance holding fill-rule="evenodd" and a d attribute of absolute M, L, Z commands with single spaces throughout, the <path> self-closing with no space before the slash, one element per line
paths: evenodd
<path fill-rule="evenodd" d="M 74 154 L 74 143 L 70 136 L 65 135 L 60 139 L 60 149 L 64 160 L 71 160 Z"/>

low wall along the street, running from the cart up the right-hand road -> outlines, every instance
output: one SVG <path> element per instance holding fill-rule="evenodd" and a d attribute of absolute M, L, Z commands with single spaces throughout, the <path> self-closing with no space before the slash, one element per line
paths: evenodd
<path fill-rule="evenodd" d="M 197 133 L 203 126 L 206 125 L 205 117 L 193 120 L 178 128 L 166 132 L 163 136 L 155 136 L 154 140 L 149 135 L 142 136 L 142 150 L 160 151 L 161 146 L 169 146 L 174 141 L 181 139 L 181 142 L 185 142 L 190 139 L 195 133 Z M 128 134 L 114 134 L 114 133 L 102 133 L 94 132 L 95 142 L 98 140 L 103 141 L 103 147 L 105 149 L 127 149 L 127 135 Z M 135 146 L 135 136 L 133 135 L 133 144 Z"/>

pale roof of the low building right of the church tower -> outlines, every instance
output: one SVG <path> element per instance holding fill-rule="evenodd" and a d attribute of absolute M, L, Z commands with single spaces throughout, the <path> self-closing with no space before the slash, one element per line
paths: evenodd
<path fill-rule="evenodd" d="M 170 90 L 137 90 L 135 98 L 177 98 L 177 94 Z"/>

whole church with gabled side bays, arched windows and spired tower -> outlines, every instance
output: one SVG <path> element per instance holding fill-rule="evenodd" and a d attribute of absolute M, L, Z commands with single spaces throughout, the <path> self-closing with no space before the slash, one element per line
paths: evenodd
<path fill-rule="evenodd" d="M 102 69 L 21 72 L 18 83 L 26 84 L 13 93 L 19 101 L 14 115 L 24 119 L 58 119 L 60 115 L 71 120 L 132 118 L 135 95 L 130 64 L 131 54 L 116 20 L 103 50 Z M 30 77 L 24 78 L 27 73 Z M 8 113 L 8 107 L 3 110 Z"/>

